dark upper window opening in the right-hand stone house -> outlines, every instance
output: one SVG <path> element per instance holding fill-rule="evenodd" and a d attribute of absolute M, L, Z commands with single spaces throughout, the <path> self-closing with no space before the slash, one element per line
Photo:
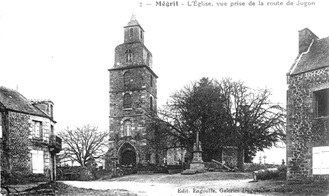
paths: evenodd
<path fill-rule="evenodd" d="M 314 117 L 329 116 L 329 88 L 313 92 Z"/>

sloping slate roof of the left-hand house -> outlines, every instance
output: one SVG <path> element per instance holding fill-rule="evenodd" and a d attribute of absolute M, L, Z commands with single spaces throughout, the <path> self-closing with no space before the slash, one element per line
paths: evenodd
<path fill-rule="evenodd" d="M 8 110 L 49 117 L 46 113 L 33 106 L 22 94 L 3 86 L 0 86 L 0 105 Z"/>

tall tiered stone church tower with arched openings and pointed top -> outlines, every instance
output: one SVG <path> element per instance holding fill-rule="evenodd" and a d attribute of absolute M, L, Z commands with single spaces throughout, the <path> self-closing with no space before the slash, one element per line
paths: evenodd
<path fill-rule="evenodd" d="M 147 152 L 145 123 L 156 113 L 156 78 L 152 54 L 144 45 L 144 30 L 135 14 L 124 27 L 124 43 L 116 46 L 110 73 L 109 151 L 118 164 L 155 162 Z"/>

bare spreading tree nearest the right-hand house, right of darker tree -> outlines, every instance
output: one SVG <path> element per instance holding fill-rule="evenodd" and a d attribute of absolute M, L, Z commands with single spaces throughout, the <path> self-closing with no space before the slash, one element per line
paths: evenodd
<path fill-rule="evenodd" d="M 252 89 L 229 78 L 218 82 L 225 97 L 227 120 L 224 143 L 238 147 L 238 167 L 243 168 L 244 149 L 252 152 L 277 146 L 285 141 L 286 111 L 272 103 L 271 89 Z"/>

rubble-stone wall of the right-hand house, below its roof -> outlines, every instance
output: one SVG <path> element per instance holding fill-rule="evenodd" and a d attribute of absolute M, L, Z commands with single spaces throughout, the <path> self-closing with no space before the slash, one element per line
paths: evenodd
<path fill-rule="evenodd" d="M 312 148 L 329 145 L 329 117 L 316 117 L 314 92 L 329 88 L 329 68 L 291 75 L 287 90 L 286 162 L 289 179 L 312 176 Z"/>

